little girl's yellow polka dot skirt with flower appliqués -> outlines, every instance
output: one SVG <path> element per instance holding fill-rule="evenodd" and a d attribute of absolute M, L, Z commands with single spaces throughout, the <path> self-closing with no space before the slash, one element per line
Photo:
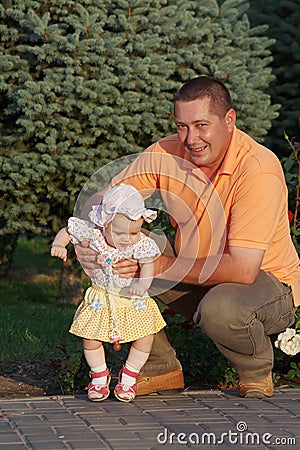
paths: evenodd
<path fill-rule="evenodd" d="M 91 286 L 77 308 L 70 332 L 86 339 L 111 342 L 112 296 L 121 343 L 157 333 L 166 325 L 151 297 L 126 295 L 128 288 L 115 289 L 110 293 L 100 286 Z"/>

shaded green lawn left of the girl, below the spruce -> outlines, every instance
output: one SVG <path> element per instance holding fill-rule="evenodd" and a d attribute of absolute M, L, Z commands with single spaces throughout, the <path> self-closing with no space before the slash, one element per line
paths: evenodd
<path fill-rule="evenodd" d="M 81 349 L 81 340 L 68 332 L 75 305 L 60 302 L 61 262 L 49 255 L 47 240 L 20 238 L 14 265 L 0 280 L 0 360 L 61 356 L 58 345 L 70 352 Z"/>

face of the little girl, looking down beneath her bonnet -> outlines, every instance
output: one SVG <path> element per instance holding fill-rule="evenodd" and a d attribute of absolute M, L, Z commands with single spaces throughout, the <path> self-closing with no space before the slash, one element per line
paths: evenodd
<path fill-rule="evenodd" d="M 106 242 L 118 250 L 124 250 L 129 245 L 136 244 L 140 239 L 142 224 L 142 218 L 131 220 L 122 214 L 116 214 L 105 227 Z"/>

